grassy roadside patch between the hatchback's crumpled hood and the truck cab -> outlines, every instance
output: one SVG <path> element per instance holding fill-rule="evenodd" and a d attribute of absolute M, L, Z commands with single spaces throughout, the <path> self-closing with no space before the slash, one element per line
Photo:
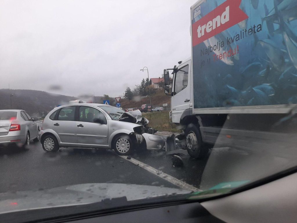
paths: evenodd
<path fill-rule="evenodd" d="M 163 112 L 146 112 L 142 113 L 143 117 L 149 120 L 149 127 L 155 128 L 159 131 L 180 132 L 176 129 L 169 118 L 169 111 Z"/>

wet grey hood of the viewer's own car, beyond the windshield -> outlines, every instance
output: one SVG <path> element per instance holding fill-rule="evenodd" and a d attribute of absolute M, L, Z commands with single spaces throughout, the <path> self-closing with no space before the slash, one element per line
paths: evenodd
<path fill-rule="evenodd" d="M 190 192 L 183 189 L 122 183 L 86 183 L 45 190 L 7 192 L 0 194 L 0 214 L 91 204 L 119 197 L 126 197 L 127 201 L 132 201 Z"/>

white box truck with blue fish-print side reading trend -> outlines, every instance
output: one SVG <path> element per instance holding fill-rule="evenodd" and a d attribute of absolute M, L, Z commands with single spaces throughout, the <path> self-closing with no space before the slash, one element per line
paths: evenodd
<path fill-rule="evenodd" d="M 164 70 L 170 117 L 190 156 L 203 157 L 210 145 L 296 151 L 296 5 L 200 0 L 191 7 L 192 56 Z"/>

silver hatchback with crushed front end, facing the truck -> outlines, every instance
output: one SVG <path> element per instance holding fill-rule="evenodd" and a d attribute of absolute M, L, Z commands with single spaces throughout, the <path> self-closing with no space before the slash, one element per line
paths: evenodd
<path fill-rule="evenodd" d="M 140 145 L 162 149 L 166 138 L 154 135 L 139 110 L 131 113 L 104 104 L 60 106 L 45 117 L 40 142 L 46 152 L 60 147 L 112 148 L 119 155 L 128 155 Z"/>

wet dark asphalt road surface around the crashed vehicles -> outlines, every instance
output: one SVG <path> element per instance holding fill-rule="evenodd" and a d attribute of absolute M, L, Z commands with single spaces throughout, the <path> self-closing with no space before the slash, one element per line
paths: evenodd
<path fill-rule="evenodd" d="M 285 158 L 225 148 L 211 149 L 202 160 L 182 155 L 183 167 L 173 167 L 164 152 L 132 155 L 155 169 L 202 190 L 222 182 L 256 180 L 290 166 Z M 39 142 L 29 149 L 0 148 L 0 193 L 42 190 L 81 183 L 130 183 L 177 188 L 110 150 L 61 148 L 45 153 Z"/>

